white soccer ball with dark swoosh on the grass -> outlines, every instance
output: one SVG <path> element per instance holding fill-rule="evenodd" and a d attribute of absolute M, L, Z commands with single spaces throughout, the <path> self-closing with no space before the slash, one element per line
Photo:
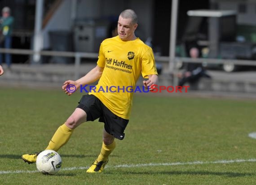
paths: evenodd
<path fill-rule="evenodd" d="M 38 154 L 35 164 L 39 172 L 53 175 L 61 169 L 62 159 L 57 152 L 44 150 Z"/>

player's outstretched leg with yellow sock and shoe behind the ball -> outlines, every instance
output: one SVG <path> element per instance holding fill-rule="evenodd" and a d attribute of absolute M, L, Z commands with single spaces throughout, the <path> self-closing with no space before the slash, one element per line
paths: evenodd
<path fill-rule="evenodd" d="M 80 108 L 76 108 L 72 115 L 66 120 L 66 122 L 62 124 L 54 133 L 51 141 L 49 142 L 49 145 L 45 150 L 59 150 L 69 141 L 74 129 L 81 123 L 84 123 L 86 119 L 87 115 L 85 111 Z M 38 152 L 33 154 L 24 154 L 22 155 L 22 159 L 29 164 L 35 163 L 38 154 Z"/>

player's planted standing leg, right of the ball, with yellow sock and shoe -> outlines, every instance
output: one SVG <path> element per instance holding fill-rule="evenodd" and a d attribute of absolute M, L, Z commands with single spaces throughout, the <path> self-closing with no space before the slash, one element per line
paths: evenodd
<path fill-rule="evenodd" d="M 110 135 L 106 130 L 103 130 L 103 142 L 102 150 L 93 165 L 86 171 L 88 173 L 102 172 L 106 163 L 108 162 L 108 156 L 115 149 L 115 137 Z"/>

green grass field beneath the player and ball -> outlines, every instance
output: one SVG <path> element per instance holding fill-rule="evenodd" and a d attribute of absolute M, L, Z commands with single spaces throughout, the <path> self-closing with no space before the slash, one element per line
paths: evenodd
<path fill-rule="evenodd" d="M 256 101 L 135 95 L 125 139 L 104 172 L 87 174 L 103 124 L 80 125 L 47 176 L 21 155 L 43 150 L 81 93 L 0 89 L 1 185 L 252 185 L 256 182 Z"/>

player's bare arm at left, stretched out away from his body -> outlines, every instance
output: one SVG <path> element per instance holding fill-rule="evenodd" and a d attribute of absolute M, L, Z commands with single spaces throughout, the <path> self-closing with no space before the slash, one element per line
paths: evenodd
<path fill-rule="evenodd" d="M 85 76 L 83 76 L 82 78 L 77 79 L 76 81 L 73 81 L 73 80 L 65 81 L 63 83 L 62 90 L 66 94 L 71 95 L 72 93 L 68 92 L 68 90 L 67 90 L 68 85 L 75 85 L 75 89 L 77 90 L 80 87 L 80 85 L 92 84 L 93 82 L 95 82 L 95 81 L 97 81 L 98 79 L 101 78 L 103 70 L 104 70 L 104 68 L 97 65 L 92 70 L 90 70 Z"/>

